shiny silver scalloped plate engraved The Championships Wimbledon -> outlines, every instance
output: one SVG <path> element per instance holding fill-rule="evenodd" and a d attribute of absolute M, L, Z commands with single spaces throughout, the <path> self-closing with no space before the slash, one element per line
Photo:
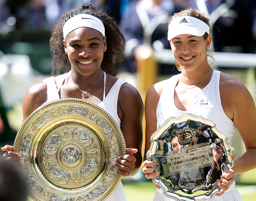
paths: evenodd
<path fill-rule="evenodd" d="M 171 117 L 150 140 L 147 160 L 160 171 L 153 183 L 175 201 L 209 201 L 222 172 L 233 166 L 226 135 L 201 116 Z"/>

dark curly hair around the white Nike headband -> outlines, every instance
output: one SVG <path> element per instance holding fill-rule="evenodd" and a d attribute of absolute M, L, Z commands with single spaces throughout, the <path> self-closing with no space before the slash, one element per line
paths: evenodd
<path fill-rule="evenodd" d="M 50 51 L 52 53 L 53 64 L 52 74 L 59 75 L 71 70 L 69 58 L 65 54 L 62 28 L 69 18 L 79 14 L 94 15 L 103 22 L 105 36 L 107 38 L 107 51 L 104 52 L 101 68 L 106 73 L 113 75 L 116 72 L 115 64 L 122 62 L 125 58 L 125 38 L 116 21 L 91 3 L 84 3 L 81 7 L 65 12 L 54 25 L 50 38 Z"/>

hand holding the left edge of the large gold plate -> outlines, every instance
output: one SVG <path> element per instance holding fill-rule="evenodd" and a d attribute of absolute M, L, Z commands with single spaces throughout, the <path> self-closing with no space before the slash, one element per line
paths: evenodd
<path fill-rule="evenodd" d="M 19 153 L 13 152 L 13 146 L 6 145 L 1 148 L 2 151 L 6 151 L 2 158 L 7 161 L 8 163 L 11 163 L 12 165 L 16 167 L 22 167 L 24 166 L 24 158 Z"/>

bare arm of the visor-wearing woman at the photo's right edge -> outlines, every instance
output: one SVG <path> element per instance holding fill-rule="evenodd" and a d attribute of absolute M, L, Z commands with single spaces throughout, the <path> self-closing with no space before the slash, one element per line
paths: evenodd
<path fill-rule="evenodd" d="M 246 148 L 232 168 L 235 174 L 240 174 L 256 168 L 256 107 L 247 88 L 224 73 L 221 73 L 220 92 L 222 107 L 234 122 Z"/>

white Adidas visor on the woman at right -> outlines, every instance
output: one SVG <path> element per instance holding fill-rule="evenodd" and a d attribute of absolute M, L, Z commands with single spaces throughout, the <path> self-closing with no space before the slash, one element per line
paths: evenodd
<path fill-rule="evenodd" d="M 190 34 L 203 36 L 205 32 L 209 34 L 210 27 L 202 20 L 191 17 L 181 16 L 171 21 L 168 27 L 168 40 L 180 34 Z"/>

